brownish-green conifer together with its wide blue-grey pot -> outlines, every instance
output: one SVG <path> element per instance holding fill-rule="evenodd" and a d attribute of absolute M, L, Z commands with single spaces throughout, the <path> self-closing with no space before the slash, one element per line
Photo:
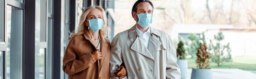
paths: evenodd
<path fill-rule="evenodd" d="M 213 79 L 212 69 L 208 68 L 210 56 L 207 52 L 207 45 L 203 38 L 203 43 L 200 43 L 197 52 L 196 64 L 198 68 L 192 69 L 191 79 Z"/>

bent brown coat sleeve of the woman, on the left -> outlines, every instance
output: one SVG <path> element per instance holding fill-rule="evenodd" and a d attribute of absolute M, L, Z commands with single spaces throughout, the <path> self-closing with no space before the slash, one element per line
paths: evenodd
<path fill-rule="evenodd" d="M 68 75 L 74 75 L 83 71 L 92 65 L 96 60 L 91 53 L 86 53 L 81 57 L 77 57 L 76 52 L 81 43 L 79 38 L 74 37 L 67 45 L 67 49 L 63 58 L 63 71 Z"/>

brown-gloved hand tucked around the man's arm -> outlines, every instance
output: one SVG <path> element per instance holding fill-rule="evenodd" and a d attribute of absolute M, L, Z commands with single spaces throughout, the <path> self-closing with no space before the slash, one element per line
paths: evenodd
<path fill-rule="evenodd" d="M 126 76 L 126 69 L 123 65 L 119 66 L 119 68 L 116 69 L 118 73 L 116 73 L 116 77 L 119 77 L 119 79 L 125 78 Z"/>

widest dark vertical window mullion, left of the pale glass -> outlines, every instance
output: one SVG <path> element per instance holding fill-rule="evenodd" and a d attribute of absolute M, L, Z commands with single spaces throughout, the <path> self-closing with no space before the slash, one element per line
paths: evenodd
<path fill-rule="evenodd" d="M 22 77 L 35 79 L 35 0 L 24 0 L 24 3 L 26 4 L 22 7 L 24 9 Z"/>

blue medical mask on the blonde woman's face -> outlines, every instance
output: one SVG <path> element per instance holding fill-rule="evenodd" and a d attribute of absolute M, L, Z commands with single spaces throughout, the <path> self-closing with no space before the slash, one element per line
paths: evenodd
<path fill-rule="evenodd" d="M 96 18 L 92 20 L 88 20 L 90 24 L 90 29 L 93 32 L 98 32 L 104 25 L 104 21 L 102 19 Z"/>

